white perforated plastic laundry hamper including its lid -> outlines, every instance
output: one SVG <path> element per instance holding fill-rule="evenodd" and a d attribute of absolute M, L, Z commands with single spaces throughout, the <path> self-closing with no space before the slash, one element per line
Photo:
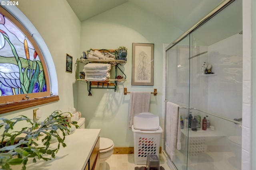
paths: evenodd
<path fill-rule="evenodd" d="M 158 115 L 143 112 L 134 116 L 133 125 L 134 163 L 146 164 L 148 155 L 159 156 L 162 127 Z"/>

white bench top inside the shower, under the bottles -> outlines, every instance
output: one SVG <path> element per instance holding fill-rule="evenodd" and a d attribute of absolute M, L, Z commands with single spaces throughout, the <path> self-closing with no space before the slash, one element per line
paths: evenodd
<path fill-rule="evenodd" d="M 188 137 L 224 137 L 226 136 L 224 133 L 220 131 L 216 131 L 216 130 L 211 131 L 209 129 L 207 129 L 206 131 L 203 131 L 203 130 L 192 131 L 191 129 L 187 131 L 187 129 L 180 129 L 180 131 Z"/>

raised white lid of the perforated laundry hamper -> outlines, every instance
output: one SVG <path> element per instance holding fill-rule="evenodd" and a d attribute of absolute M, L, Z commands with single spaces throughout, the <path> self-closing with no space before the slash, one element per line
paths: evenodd
<path fill-rule="evenodd" d="M 159 128 L 159 116 L 150 112 L 142 112 L 133 118 L 134 129 L 157 130 Z"/>

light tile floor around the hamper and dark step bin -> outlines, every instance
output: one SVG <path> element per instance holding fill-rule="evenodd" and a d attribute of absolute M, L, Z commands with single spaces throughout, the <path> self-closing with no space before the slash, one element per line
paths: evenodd
<path fill-rule="evenodd" d="M 167 165 L 166 158 L 163 154 L 159 154 L 160 166 L 164 167 L 164 170 L 171 170 Z M 134 154 L 112 154 L 112 156 L 106 160 L 107 170 L 134 170 L 138 166 L 134 164 Z"/>

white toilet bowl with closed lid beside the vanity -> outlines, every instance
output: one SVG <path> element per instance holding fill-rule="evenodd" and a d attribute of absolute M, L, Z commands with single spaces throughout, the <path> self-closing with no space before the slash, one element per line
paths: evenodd
<path fill-rule="evenodd" d="M 106 160 L 114 152 L 114 142 L 111 139 L 100 137 L 100 170 L 107 170 Z"/>

